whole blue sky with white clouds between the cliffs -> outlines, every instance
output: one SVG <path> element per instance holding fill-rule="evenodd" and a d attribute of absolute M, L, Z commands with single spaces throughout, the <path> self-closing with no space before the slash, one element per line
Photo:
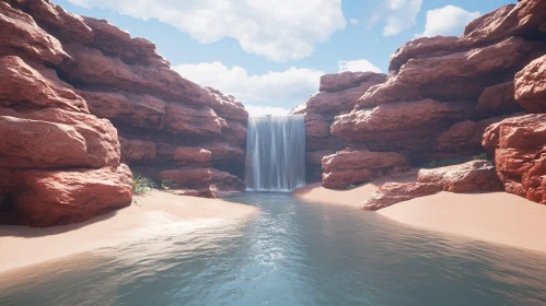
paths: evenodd
<path fill-rule="evenodd" d="M 287 111 L 324 73 L 386 72 L 419 36 L 456 35 L 510 0 L 54 0 L 156 44 L 173 69 L 240 98 L 253 114 Z"/>

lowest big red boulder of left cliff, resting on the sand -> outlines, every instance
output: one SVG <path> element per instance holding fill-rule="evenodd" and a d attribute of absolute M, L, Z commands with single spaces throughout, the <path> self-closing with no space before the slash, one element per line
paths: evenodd
<path fill-rule="evenodd" d="M 14 175 L 10 210 L 0 223 L 36 227 L 88 221 L 130 205 L 131 172 L 116 168 L 23 170 Z"/>

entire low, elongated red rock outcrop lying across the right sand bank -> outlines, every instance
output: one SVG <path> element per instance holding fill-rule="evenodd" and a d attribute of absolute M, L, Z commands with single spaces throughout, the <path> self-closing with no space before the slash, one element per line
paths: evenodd
<path fill-rule="evenodd" d="M 472 161 L 461 165 L 421 169 L 416 183 L 386 183 L 360 205 L 376 211 L 399 202 L 440 191 L 455 193 L 502 191 L 495 166 L 489 161 Z"/>

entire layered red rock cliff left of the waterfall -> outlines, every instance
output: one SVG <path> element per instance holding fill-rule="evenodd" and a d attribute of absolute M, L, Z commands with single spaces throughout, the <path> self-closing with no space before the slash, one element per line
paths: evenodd
<path fill-rule="evenodd" d="M 129 205 L 130 169 L 188 195 L 244 189 L 243 105 L 106 21 L 0 1 L 0 223 L 67 224 Z"/>

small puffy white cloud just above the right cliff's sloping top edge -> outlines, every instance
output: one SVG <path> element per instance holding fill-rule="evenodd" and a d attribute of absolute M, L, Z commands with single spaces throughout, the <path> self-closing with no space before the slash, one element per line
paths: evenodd
<path fill-rule="evenodd" d="M 480 15 L 481 14 L 479 12 L 471 13 L 453 5 L 430 10 L 427 12 L 425 32 L 422 34 L 418 34 L 417 36 L 458 36 L 468 22 Z"/>

